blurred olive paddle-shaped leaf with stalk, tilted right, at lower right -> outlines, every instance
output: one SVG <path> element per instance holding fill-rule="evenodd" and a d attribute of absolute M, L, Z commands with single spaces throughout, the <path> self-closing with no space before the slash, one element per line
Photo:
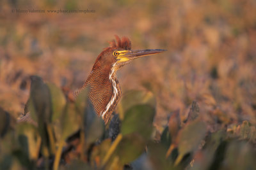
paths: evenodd
<path fill-rule="evenodd" d="M 200 120 L 195 120 L 186 125 L 184 129 L 180 130 L 177 141 L 179 156 L 175 160 L 175 165 L 179 164 L 184 155 L 198 148 L 206 132 L 207 127 L 205 123 Z"/>

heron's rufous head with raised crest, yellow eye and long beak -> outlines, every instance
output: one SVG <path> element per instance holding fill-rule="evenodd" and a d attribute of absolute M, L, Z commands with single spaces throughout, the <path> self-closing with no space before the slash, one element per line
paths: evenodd
<path fill-rule="evenodd" d="M 116 41 L 109 42 L 110 46 L 105 48 L 97 57 L 93 71 L 99 68 L 109 68 L 109 70 L 114 68 L 116 71 L 133 59 L 166 51 L 161 49 L 131 50 L 131 41 L 129 38 L 123 37 L 120 39 L 118 36 L 115 36 L 115 38 Z"/>

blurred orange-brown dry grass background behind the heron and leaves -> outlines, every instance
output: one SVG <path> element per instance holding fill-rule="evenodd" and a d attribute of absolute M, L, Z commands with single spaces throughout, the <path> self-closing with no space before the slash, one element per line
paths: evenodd
<path fill-rule="evenodd" d="M 95 13 L 12 13 L 20 10 L 95 10 Z M 14 117 L 29 96 L 29 76 L 76 90 L 113 35 L 133 49 L 163 48 L 118 72 L 125 92 L 157 96 L 156 125 L 198 101 L 209 125 L 256 124 L 256 1 L 0 2 L 0 106 Z M 218 124 L 217 124 L 218 125 Z"/>

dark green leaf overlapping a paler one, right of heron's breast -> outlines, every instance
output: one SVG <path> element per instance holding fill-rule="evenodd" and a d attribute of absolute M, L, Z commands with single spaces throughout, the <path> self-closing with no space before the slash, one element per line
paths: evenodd
<path fill-rule="evenodd" d="M 148 104 L 133 106 L 125 113 L 121 133 L 125 136 L 136 132 L 145 140 L 148 140 L 152 134 L 152 123 L 155 113 L 156 110 Z"/>

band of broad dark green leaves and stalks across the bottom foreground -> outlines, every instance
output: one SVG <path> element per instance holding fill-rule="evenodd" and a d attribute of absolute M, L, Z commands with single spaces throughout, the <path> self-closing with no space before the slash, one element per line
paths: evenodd
<path fill-rule="evenodd" d="M 248 121 L 211 132 L 193 101 L 186 121 L 180 120 L 180 111 L 173 111 L 156 138 L 152 93 L 127 93 L 118 105 L 119 114 L 106 126 L 87 96 L 84 89 L 72 103 L 55 85 L 32 78 L 27 109 L 37 126 L 22 123 L 11 128 L 10 115 L 0 108 L 0 169 L 256 167 L 256 130 Z"/>

